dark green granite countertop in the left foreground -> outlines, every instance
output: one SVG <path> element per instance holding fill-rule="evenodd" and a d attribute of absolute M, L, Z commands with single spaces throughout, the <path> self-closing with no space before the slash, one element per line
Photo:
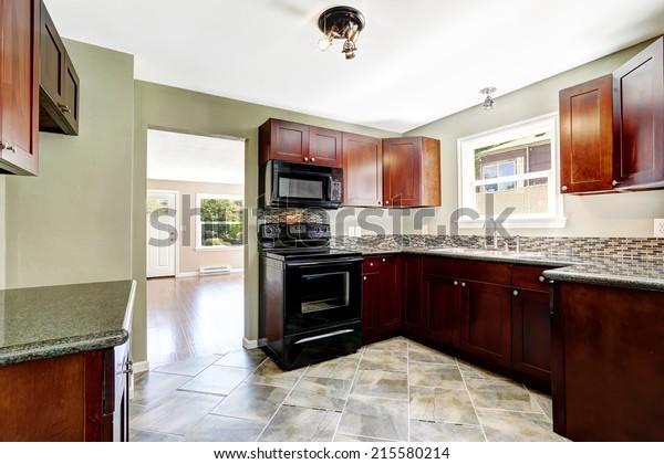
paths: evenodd
<path fill-rule="evenodd" d="M 0 366 L 124 344 L 135 287 L 118 281 L 0 291 Z"/>

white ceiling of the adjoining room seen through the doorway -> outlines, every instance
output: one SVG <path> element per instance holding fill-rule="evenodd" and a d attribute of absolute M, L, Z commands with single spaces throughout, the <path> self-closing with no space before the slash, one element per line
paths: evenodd
<path fill-rule="evenodd" d="M 149 129 L 147 178 L 243 184 L 245 141 Z"/>

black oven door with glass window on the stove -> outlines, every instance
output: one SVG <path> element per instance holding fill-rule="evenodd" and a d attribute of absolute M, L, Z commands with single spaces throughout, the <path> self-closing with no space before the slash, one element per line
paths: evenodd
<path fill-rule="evenodd" d="M 345 257 L 287 263 L 284 334 L 360 320 L 362 261 Z"/>

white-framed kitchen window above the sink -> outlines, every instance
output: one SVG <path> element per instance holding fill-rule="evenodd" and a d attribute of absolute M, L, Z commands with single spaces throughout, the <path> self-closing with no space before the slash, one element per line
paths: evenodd
<path fill-rule="evenodd" d="M 458 140 L 459 205 L 479 214 L 460 226 L 481 228 L 485 217 L 513 208 L 504 225 L 564 225 L 558 189 L 558 117 L 547 115 Z M 490 209 L 492 204 L 492 210 Z"/>

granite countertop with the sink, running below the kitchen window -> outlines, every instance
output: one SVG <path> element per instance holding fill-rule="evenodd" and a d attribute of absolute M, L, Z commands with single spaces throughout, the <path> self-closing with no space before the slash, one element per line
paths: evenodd
<path fill-rule="evenodd" d="M 490 250 L 463 254 L 453 246 L 376 249 L 355 247 L 364 256 L 398 253 L 445 256 L 459 260 L 491 261 L 552 267 L 543 272 L 551 281 L 664 292 L 664 260 L 646 257 L 578 257 L 547 253 L 496 253 Z"/>

